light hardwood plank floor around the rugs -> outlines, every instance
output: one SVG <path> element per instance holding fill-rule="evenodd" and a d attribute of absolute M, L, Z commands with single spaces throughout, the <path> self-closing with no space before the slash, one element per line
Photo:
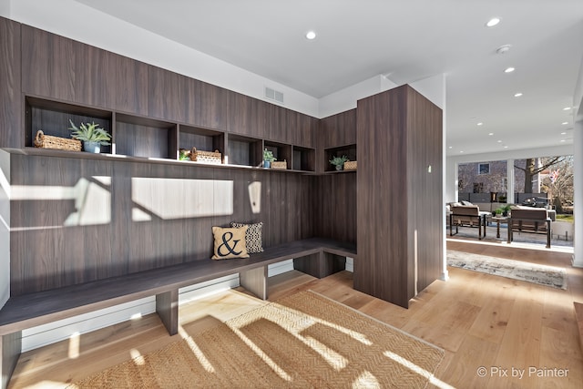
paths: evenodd
<path fill-rule="evenodd" d="M 583 302 L 583 270 L 570 266 L 571 254 L 458 240 L 448 241 L 447 248 L 565 267 L 568 290 L 449 268 L 449 281 L 432 283 L 405 310 L 354 291 L 348 271 L 322 280 L 290 271 L 271 278 L 270 300 L 311 289 L 443 347 L 445 360 L 436 373 L 443 384 L 435 387 L 580 388 L 583 356 L 573 302 Z M 181 334 L 173 337 L 152 314 L 23 353 L 10 387 L 63 387 L 264 303 L 242 289 L 220 292 L 181 305 Z M 485 377 L 478 375 L 482 366 Z M 513 368 L 514 374 L 525 372 L 522 379 L 512 377 Z M 529 368 L 568 373 L 538 377 Z"/>

